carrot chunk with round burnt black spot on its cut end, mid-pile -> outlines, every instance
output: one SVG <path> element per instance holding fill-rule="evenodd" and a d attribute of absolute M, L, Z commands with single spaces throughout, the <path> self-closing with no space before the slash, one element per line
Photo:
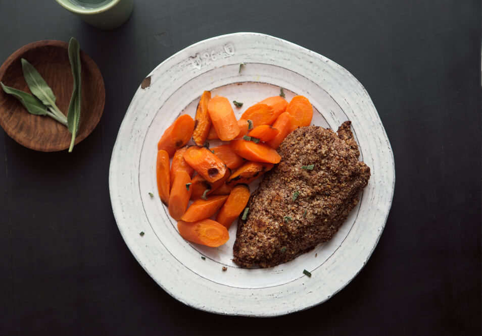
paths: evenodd
<path fill-rule="evenodd" d="M 206 147 L 190 146 L 184 153 L 184 159 L 208 182 L 217 181 L 226 173 L 224 162 Z"/>

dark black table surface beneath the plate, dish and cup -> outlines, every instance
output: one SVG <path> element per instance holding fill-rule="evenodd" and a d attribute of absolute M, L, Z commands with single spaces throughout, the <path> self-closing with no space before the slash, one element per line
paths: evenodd
<path fill-rule="evenodd" d="M 480 13 L 478 0 L 136 0 L 126 24 L 103 31 L 54 0 L 0 0 L 0 63 L 27 43 L 74 36 L 107 97 L 70 154 L 0 131 L 0 335 L 480 335 Z M 142 79 L 192 43 L 241 31 L 349 70 L 396 167 L 387 225 L 362 271 L 327 302 L 267 319 L 173 299 L 129 252 L 109 198 L 112 149 Z"/>

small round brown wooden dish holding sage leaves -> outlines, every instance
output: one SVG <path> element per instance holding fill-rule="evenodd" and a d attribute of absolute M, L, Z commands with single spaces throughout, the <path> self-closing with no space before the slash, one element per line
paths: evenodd
<path fill-rule="evenodd" d="M 68 57 L 68 43 L 44 40 L 27 44 L 15 51 L 0 67 L 0 81 L 7 86 L 29 92 L 23 77 L 21 59 L 30 62 L 49 84 L 57 97 L 56 104 L 67 114 L 72 95 L 72 71 Z M 99 123 L 104 111 L 106 91 L 97 65 L 82 50 L 81 59 L 81 112 L 75 143 L 89 135 Z M 19 144 L 44 152 L 69 148 L 71 133 L 67 127 L 50 117 L 28 113 L 13 96 L 0 88 L 0 125 Z"/>

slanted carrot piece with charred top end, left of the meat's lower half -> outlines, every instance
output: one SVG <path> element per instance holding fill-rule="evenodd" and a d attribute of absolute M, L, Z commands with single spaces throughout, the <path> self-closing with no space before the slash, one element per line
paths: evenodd
<path fill-rule="evenodd" d="M 238 184 L 231 190 L 229 197 L 219 210 L 216 221 L 229 229 L 233 220 L 245 209 L 249 199 L 250 188 L 246 184 Z"/>

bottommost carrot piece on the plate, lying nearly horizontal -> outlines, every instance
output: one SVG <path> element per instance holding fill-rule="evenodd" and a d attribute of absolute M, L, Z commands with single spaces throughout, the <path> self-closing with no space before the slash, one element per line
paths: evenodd
<path fill-rule="evenodd" d="M 229 239 L 227 229 L 212 219 L 194 222 L 180 220 L 177 222 L 177 230 L 185 240 L 210 247 L 221 246 Z"/>

